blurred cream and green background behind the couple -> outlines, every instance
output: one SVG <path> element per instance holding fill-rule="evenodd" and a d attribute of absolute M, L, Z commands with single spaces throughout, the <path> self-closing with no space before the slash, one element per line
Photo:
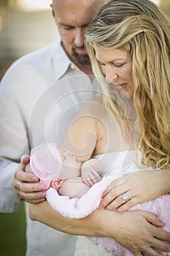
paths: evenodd
<path fill-rule="evenodd" d="M 50 3 L 51 0 L 0 0 L 0 80 L 15 59 L 53 42 L 56 27 Z M 158 5 L 170 17 L 170 0 L 159 0 Z M 24 256 L 25 231 L 23 202 L 14 214 L 0 214 L 0 255 Z"/>

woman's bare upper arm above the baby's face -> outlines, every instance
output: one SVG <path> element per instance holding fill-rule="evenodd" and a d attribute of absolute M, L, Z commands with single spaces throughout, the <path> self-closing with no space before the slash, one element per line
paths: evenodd
<path fill-rule="evenodd" d="M 107 125 L 104 117 L 106 110 L 98 97 L 85 103 L 72 120 L 64 136 L 61 153 L 70 152 L 78 160 L 85 162 L 93 155 L 98 141 L 107 135 Z M 107 138 L 106 142 L 107 144 Z"/>

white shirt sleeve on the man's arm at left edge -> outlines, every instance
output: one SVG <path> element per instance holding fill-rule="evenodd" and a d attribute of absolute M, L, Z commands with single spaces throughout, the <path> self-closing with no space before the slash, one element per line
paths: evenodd
<path fill-rule="evenodd" d="M 0 85 L 0 212 L 17 211 L 20 198 L 15 193 L 13 177 L 20 157 L 29 154 L 20 84 L 19 72 L 10 68 Z"/>

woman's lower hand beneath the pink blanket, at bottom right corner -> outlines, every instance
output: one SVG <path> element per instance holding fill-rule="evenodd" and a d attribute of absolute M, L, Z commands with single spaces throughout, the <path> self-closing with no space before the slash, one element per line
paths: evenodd
<path fill-rule="evenodd" d="M 170 252 L 170 233 L 160 229 L 164 224 L 154 214 L 147 211 L 116 214 L 118 231 L 114 234 L 115 240 L 135 256 L 141 252 L 148 256 L 161 256 L 161 252 Z M 155 249 L 161 252 L 156 252 Z"/>

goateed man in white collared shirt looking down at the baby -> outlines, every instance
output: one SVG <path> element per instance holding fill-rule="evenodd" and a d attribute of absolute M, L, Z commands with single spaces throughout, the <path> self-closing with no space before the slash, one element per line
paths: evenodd
<path fill-rule="evenodd" d="M 56 127 L 59 127 L 58 129 L 61 127 L 63 135 L 66 130 L 66 121 L 69 123 L 76 111 L 73 109 L 74 105 L 94 96 L 91 92 L 95 88 L 93 79 L 91 80 L 88 76 L 93 72 L 85 51 L 83 32 L 101 4 L 104 4 L 104 1 L 54 0 L 51 8 L 61 37 L 58 35 L 52 45 L 15 61 L 1 80 L 0 187 L 3 195 L 0 199 L 1 212 L 16 211 L 20 199 L 30 203 L 45 200 L 43 185 L 39 188 L 41 185 L 39 182 L 33 183 L 37 179 L 24 170 L 20 171 L 18 163 L 23 154 L 30 154 L 31 147 L 46 140 L 56 141 Z M 78 89 L 84 90 L 84 93 L 81 95 L 73 93 L 72 97 L 66 97 L 68 90 L 72 93 Z M 59 100 L 56 103 L 61 95 L 64 95 L 63 101 Z M 72 105 L 73 107 L 70 108 Z M 46 114 L 52 106 L 51 117 L 47 118 Z M 58 126 L 56 121 L 60 116 L 59 108 L 62 111 L 69 108 L 70 114 L 66 114 L 66 120 L 61 121 Z M 47 135 L 44 135 L 46 129 L 43 124 L 44 118 L 50 131 Z M 31 183 L 24 182 L 30 180 Z M 26 255 L 74 254 L 76 236 L 69 236 L 39 222 L 32 222 L 28 218 L 27 207 L 26 214 Z"/>

